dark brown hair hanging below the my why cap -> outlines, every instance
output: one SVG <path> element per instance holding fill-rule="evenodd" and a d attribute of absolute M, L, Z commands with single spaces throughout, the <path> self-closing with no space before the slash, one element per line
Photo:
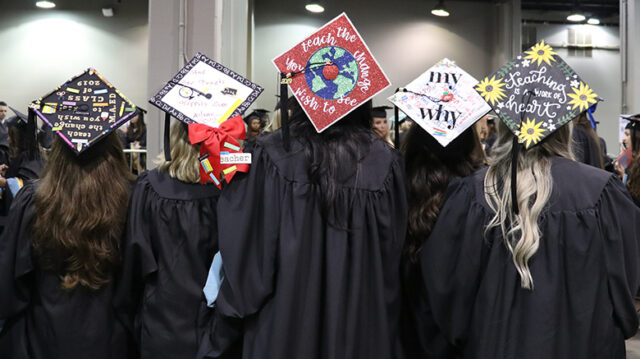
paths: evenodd
<path fill-rule="evenodd" d="M 482 166 L 484 155 L 475 126 L 447 147 L 418 125 L 411 126 L 402 144 L 409 184 L 409 226 L 405 254 L 416 263 L 444 204 L 449 182 Z"/>

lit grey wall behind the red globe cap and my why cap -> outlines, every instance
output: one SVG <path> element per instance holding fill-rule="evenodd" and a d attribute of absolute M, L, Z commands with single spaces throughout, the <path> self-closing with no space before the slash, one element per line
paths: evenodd
<path fill-rule="evenodd" d="M 397 87 L 405 86 L 444 57 L 480 79 L 502 65 L 502 58 L 511 58 L 510 50 L 508 56 L 497 56 L 505 51 L 502 44 L 508 43 L 504 47 L 509 48 L 513 41 L 519 44 L 519 32 L 515 37 L 505 37 L 505 31 L 498 31 L 511 29 L 514 19 L 519 26 L 519 1 L 508 2 L 516 3 L 508 12 L 504 5 L 489 2 L 448 1 L 448 18 L 430 14 L 436 1 L 331 1 L 320 15 L 306 12 L 303 3 L 256 1 L 253 80 L 265 87 L 265 92 L 255 107 L 273 109 L 276 104 L 278 75 L 271 60 L 342 11 L 391 80 L 392 86 L 374 98 L 375 105 L 386 104 Z M 503 25 L 499 27 L 498 23 Z"/>

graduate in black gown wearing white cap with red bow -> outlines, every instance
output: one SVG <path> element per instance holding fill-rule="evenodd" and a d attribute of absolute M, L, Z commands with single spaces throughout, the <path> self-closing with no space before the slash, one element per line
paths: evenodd
<path fill-rule="evenodd" d="M 198 54 L 186 70 L 202 69 L 197 72 L 204 75 L 188 75 L 180 81 L 196 90 L 200 83 L 235 81 L 215 66 Z M 172 103 L 171 114 L 183 120 L 171 126 L 170 135 L 165 133 L 170 136 L 170 145 L 165 148 L 170 154 L 158 160 L 157 168 L 141 174 L 133 188 L 118 277 L 117 309 L 131 326 L 142 359 L 195 358 L 208 323 L 202 288 L 218 251 L 220 176 L 224 171 L 227 180 L 232 177 L 227 172 L 229 166 L 221 167 L 220 159 L 216 162 L 214 157 L 221 155 L 221 149 L 232 150 L 224 146 L 239 149 L 235 138 L 245 136 L 240 116 L 218 124 L 217 115 L 199 118 L 189 112 L 193 106 L 213 114 L 227 111 L 230 107 L 217 107 L 218 103 L 224 105 L 224 98 L 213 96 L 218 88 L 209 86 L 206 93 L 218 102 L 198 96 L 201 103 L 184 105 L 171 97 L 173 91 L 184 92 L 180 87 L 178 81 L 170 80 L 151 100 L 161 108 L 158 103 Z M 244 107 L 250 105 L 246 98 L 242 100 Z"/>

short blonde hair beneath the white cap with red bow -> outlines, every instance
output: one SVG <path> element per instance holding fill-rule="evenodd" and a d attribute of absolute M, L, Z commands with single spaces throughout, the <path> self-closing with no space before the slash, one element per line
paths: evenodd
<path fill-rule="evenodd" d="M 169 142 L 171 161 L 160 154 L 155 161 L 158 170 L 182 182 L 200 183 L 200 145 L 191 145 L 189 133 L 182 122 L 174 121 L 171 125 Z"/>

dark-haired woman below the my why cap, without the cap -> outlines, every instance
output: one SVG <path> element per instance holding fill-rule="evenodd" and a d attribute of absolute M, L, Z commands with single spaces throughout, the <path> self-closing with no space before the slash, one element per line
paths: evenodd
<path fill-rule="evenodd" d="M 425 342 L 429 327 L 422 320 L 428 314 L 426 294 L 419 269 L 420 250 L 429 237 L 444 205 L 447 186 L 456 178 L 478 170 L 484 155 L 476 126 L 471 126 L 443 147 L 422 127 L 411 127 L 402 146 L 407 172 L 409 223 L 403 260 L 403 290 L 406 310 L 403 315 L 403 339 L 408 352 L 416 357 L 428 356 L 439 346 L 437 340 Z"/>

